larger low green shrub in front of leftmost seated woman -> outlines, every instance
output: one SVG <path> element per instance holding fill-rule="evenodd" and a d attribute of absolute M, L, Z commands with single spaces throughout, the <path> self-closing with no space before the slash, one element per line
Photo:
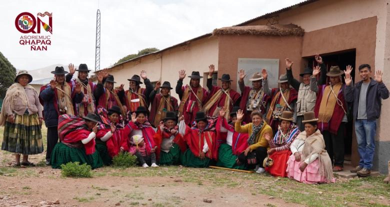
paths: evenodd
<path fill-rule="evenodd" d="M 65 177 L 91 177 L 91 169 L 91 166 L 86 163 L 80 165 L 78 161 L 61 164 L 61 174 Z"/>

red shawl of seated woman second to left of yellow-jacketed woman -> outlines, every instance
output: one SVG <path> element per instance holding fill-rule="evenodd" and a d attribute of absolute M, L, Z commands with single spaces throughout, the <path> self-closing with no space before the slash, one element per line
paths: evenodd
<path fill-rule="evenodd" d="M 183 138 L 191 152 L 197 157 L 199 157 L 200 151 L 203 150 L 205 138 L 208 145 L 208 151 L 205 155 L 210 159 L 216 160 L 218 158 L 218 147 L 215 135 L 214 131 L 200 131 L 198 128 L 190 128 L 188 125 L 185 125 Z"/>

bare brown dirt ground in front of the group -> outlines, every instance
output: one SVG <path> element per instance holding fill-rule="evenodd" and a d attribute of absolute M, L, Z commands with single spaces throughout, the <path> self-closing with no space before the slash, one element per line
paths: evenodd
<path fill-rule="evenodd" d="M 44 154 L 33 155 L 30 161 L 38 163 L 43 158 Z M 59 169 L 48 166 L 13 167 L 13 154 L 8 152 L 1 151 L 0 160 L 0 206 L 291 206 L 258 194 L 259 184 L 248 187 L 253 180 L 223 178 L 242 172 L 177 166 L 103 167 L 93 170 L 92 178 L 64 178 Z M 218 172 L 217 182 L 212 176 L 201 178 L 211 170 Z M 57 200 L 59 204 L 54 204 Z"/>

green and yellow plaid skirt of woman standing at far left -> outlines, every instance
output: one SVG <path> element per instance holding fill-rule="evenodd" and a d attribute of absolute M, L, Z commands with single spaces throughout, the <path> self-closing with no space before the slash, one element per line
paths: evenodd
<path fill-rule="evenodd" d="M 5 121 L 1 149 L 20 154 L 42 153 L 38 114 L 15 114 L 14 123 Z"/>

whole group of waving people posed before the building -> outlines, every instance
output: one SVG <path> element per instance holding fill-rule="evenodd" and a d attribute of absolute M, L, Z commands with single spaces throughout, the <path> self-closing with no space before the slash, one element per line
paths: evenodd
<path fill-rule="evenodd" d="M 153 87 L 144 70 L 129 78 L 124 89 L 123 84 L 114 87 L 114 77 L 105 70 L 97 74 L 96 84 L 88 79 L 86 64 L 78 69 L 69 64 L 69 72 L 55 67 L 54 79 L 39 94 L 28 84 L 32 76 L 20 70 L 1 108 L 1 149 L 16 154 L 16 165 L 33 165 L 28 155 L 43 151 L 44 120 L 46 164 L 53 168 L 70 161 L 97 168 L 127 152 L 143 167 L 216 165 L 304 183 L 333 182 L 333 171 L 343 170 L 345 124 L 353 105 L 360 161 L 351 171 L 368 176 L 380 101 L 389 96 L 382 72 L 372 78 L 370 65 L 362 64 L 362 80 L 353 85 L 351 66 L 327 71 L 321 56 L 315 60 L 317 66 L 299 74 L 300 82 L 292 75 L 293 61 L 286 58 L 277 88 L 268 87 L 265 68 L 252 74 L 251 86 L 244 84 L 246 74 L 240 69 L 241 93 L 230 87 L 229 74 L 221 75 L 220 86 L 213 85 L 212 64 L 206 88 L 199 84 L 203 77 L 198 71 L 183 85 L 185 70 L 179 70 L 179 101 L 170 95 L 170 82 L 157 81 Z"/>

